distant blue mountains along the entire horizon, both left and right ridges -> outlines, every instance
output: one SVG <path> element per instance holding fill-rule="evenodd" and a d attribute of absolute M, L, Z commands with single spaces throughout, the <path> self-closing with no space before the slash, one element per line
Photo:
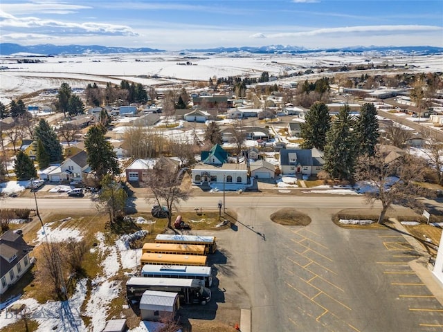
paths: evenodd
<path fill-rule="evenodd" d="M 166 52 L 154 48 L 126 48 L 107 47 L 100 45 L 63 45 L 40 44 L 32 46 L 21 46 L 19 44 L 0 43 L 0 55 L 33 54 L 33 55 L 87 55 L 87 54 L 111 54 L 111 53 L 152 53 Z M 352 46 L 343 48 L 304 48 L 300 46 L 269 45 L 260 47 L 217 47 L 217 48 L 196 48 L 180 50 L 186 52 L 204 53 L 253 53 L 253 54 L 303 54 L 303 53 L 363 53 L 377 52 L 383 54 L 415 54 L 428 55 L 443 53 L 442 47 L 435 46 Z"/>

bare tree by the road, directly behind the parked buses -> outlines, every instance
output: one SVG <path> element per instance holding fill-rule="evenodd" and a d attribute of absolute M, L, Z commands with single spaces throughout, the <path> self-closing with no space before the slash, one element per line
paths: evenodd
<path fill-rule="evenodd" d="M 172 227 L 172 210 L 180 201 L 187 201 L 190 192 L 181 187 L 181 176 L 172 167 L 154 167 L 147 176 L 147 187 L 154 194 L 154 200 L 158 205 L 164 205 L 169 209 L 168 228 Z"/>

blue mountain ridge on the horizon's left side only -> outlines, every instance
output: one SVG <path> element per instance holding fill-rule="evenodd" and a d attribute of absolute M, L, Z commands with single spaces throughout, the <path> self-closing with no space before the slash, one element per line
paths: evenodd
<path fill-rule="evenodd" d="M 107 47 L 100 45 L 52 45 L 40 44 L 21 46 L 19 44 L 1 43 L 0 55 L 12 55 L 15 53 L 28 53 L 33 55 L 80 55 L 80 54 L 111 54 L 111 53 L 141 53 L 141 52 L 164 52 L 154 48 L 126 48 Z"/>

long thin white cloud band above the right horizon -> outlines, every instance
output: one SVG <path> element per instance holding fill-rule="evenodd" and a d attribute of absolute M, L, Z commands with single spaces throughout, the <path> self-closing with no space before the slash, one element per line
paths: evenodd
<path fill-rule="evenodd" d="M 399 25 L 399 26 L 345 26 L 340 28 L 323 28 L 310 31 L 300 31 L 298 33 L 275 33 L 267 35 L 268 38 L 284 37 L 303 37 L 325 35 L 330 33 L 397 33 L 397 32 L 422 32 L 443 30 L 440 26 L 418 26 L 418 25 Z"/>

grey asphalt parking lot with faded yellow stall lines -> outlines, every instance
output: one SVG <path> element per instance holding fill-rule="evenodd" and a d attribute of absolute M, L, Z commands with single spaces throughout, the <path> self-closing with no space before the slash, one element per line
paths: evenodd
<path fill-rule="evenodd" d="M 307 209 L 307 227 L 277 225 L 259 206 L 221 232 L 215 264 L 224 309 L 251 308 L 252 331 L 442 331 L 443 306 L 410 268 L 403 235 L 344 229 Z"/>

